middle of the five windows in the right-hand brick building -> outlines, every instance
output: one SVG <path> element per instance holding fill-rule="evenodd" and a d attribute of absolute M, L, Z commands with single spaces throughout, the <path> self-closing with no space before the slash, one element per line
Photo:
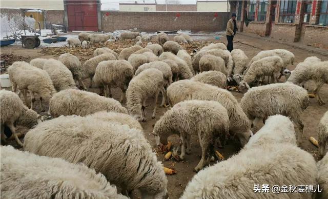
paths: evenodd
<path fill-rule="evenodd" d="M 279 22 L 294 23 L 297 1 L 280 1 Z"/>

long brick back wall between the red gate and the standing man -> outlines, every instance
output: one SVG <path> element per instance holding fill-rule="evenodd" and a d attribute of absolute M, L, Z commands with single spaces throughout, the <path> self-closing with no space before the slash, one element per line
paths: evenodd
<path fill-rule="evenodd" d="M 101 27 L 105 32 L 133 28 L 139 31 L 224 31 L 228 20 L 229 13 L 222 12 L 101 12 Z"/>

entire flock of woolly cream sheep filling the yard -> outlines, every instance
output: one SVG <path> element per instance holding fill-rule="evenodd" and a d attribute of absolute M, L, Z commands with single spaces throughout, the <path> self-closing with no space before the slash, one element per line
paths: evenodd
<path fill-rule="evenodd" d="M 111 35 L 80 33 L 78 38 L 69 38 L 68 44 L 88 47 L 105 43 Z M 127 198 L 134 189 L 142 198 L 166 198 L 165 171 L 139 123 L 147 120 L 146 101 L 152 97 L 155 118 L 160 94 L 160 106 L 172 108 L 153 128 L 156 143 L 165 148 L 170 135 L 179 135 L 180 160 L 190 154 L 192 136 L 198 136 L 201 146 L 201 160 L 194 168 L 198 173 L 181 198 L 258 198 L 253 191 L 258 183 L 320 184 L 321 198 L 328 197 L 328 111 L 319 123 L 323 159 L 316 164 L 298 147 L 304 127 L 300 116 L 310 101 L 301 86 L 314 81 L 317 100 L 324 104 L 319 91 L 328 84 L 327 61 L 308 57 L 289 71 L 286 67 L 295 57 L 283 49 L 261 51 L 249 62 L 242 50 L 230 53 L 221 43 L 189 54 L 179 44 L 192 42 L 186 34 L 169 41 L 161 32 L 158 44 L 134 32 L 123 32 L 119 39 L 135 39 L 136 45 L 119 54 L 97 48 L 84 64 L 65 53 L 58 60 L 36 58 L 8 67 L 12 91 L 1 91 L 2 141 L 7 126 L 25 151 L 1 147 L 4 198 Z M 143 48 L 141 41 L 149 43 Z M 278 83 L 282 75 L 288 80 Z M 88 92 L 85 79 L 105 96 Z M 248 90 L 240 103 L 226 90 L 231 81 L 239 90 Z M 119 102 L 111 98 L 112 87 L 122 92 Z M 42 111 L 49 107 L 52 120 L 43 122 L 33 110 L 36 98 Z M 125 102 L 127 108 L 122 106 Z M 265 125 L 253 135 L 252 127 L 259 121 Z M 24 144 L 14 124 L 31 128 Z M 215 147 L 224 147 L 229 136 L 240 141 L 240 152 L 204 168 L 215 156 Z M 310 198 L 311 194 L 265 196 Z"/>

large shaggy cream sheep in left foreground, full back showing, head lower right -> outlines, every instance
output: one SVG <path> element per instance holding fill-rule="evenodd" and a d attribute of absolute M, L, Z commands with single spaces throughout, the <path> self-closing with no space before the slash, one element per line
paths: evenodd
<path fill-rule="evenodd" d="M 89 116 L 61 116 L 27 132 L 24 150 L 83 163 L 126 194 L 134 189 L 140 190 L 142 198 L 167 194 L 162 164 L 143 133 L 127 125 Z"/>

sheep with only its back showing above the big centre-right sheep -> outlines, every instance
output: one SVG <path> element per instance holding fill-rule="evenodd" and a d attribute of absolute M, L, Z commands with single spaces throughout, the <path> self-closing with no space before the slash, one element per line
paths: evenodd
<path fill-rule="evenodd" d="M 201 72 L 193 76 L 190 80 L 210 84 L 223 89 L 227 87 L 227 76 L 220 71 L 210 70 Z"/>

